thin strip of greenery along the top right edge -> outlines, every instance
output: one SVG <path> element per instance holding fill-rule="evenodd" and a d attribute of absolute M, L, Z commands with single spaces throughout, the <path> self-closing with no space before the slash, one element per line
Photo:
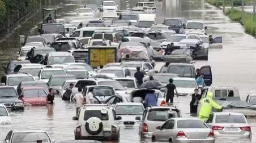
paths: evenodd
<path fill-rule="evenodd" d="M 208 0 L 208 3 L 215 6 L 223 6 L 223 0 Z M 231 6 L 232 0 L 225 0 L 225 6 Z M 244 0 L 244 5 L 248 5 L 251 3 L 251 0 Z M 233 6 L 241 6 L 242 1 L 241 0 L 234 0 Z"/>

